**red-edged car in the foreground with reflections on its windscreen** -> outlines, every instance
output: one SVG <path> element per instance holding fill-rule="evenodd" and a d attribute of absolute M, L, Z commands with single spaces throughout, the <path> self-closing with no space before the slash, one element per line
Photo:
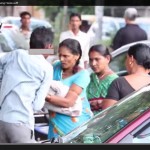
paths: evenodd
<path fill-rule="evenodd" d="M 149 97 L 150 85 L 147 85 L 55 141 L 66 144 L 149 143 Z"/>

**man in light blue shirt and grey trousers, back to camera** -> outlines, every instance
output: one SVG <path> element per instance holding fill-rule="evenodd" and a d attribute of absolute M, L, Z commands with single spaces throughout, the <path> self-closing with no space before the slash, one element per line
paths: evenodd
<path fill-rule="evenodd" d="M 50 29 L 36 28 L 30 48 L 50 48 L 52 40 Z M 16 49 L 0 58 L 0 143 L 35 142 L 34 111 L 43 108 L 52 76 L 42 55 Z"/>

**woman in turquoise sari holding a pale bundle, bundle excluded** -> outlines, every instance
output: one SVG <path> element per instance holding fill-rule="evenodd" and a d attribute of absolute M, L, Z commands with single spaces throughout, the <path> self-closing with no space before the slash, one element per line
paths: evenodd
<path fill-rule="evenodd" d="M 46 101 L 61 107 L 72 107 L 78 96 L 80 96 L 82 99 L 82 113 L 80 116 L 71 117 L 51 112 L 48 139 L 66 135 L 93 116 L 86 97 L 86 88 L 90 82 L 90 76 L 86 69 L 79 67 L 82 55 L 80 43 L 75 39 L 66 39 L 59 44 L 58 54 L 60 61 L 53 64 L 53 79 L 62 81 L 70 88 L 65 97 L 48 95 Z"/>

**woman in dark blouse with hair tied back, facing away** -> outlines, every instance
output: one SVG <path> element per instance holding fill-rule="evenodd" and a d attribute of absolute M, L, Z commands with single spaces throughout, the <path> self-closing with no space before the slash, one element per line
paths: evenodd
<path fill-rule="evenodd" d="M 101 103 L 102 109 L 150 83 L 150 47 L 141 43 L 131 46 L 126 57 L 126 68 L 129 75 L 112 82 L 106 99 Z"/>

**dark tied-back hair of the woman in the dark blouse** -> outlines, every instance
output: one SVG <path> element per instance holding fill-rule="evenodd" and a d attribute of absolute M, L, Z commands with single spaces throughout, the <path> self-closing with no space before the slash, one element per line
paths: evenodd
<path fill-rule="evenodd" d="M 150 47 L 146 44 L 138 43 L 131 46 L 128 55 L 133 56 L 138 65 L 145 69 L 150 69 Z"/>

